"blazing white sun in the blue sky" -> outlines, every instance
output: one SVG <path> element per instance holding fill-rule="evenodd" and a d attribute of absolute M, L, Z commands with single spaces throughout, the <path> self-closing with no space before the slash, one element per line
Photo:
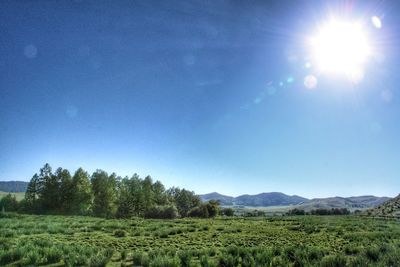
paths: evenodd
<path fill-rule="evenodd" d="M 313 64 L 320 72 L 344 74 L 358 81 L 371 55 L 366 31 L 361 23 L 331 19 L 311 37 Z"/>

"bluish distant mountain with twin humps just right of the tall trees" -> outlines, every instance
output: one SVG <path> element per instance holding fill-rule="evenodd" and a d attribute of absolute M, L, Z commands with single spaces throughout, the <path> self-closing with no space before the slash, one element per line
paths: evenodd
<path fill-rule="evenodd" d="M 221 205 L 231 206 L 253 206 L 253 207 L 268 207 L 268 206 L 288 206 L 301 204 L 308 199 L 299 196 L 288 196 L 279 192 L 261 193 L 258 195 L 241 195 L 231 197 L 213 192 L 210 194 L 200 195 L 203 201 L 219 200 Z"/>

